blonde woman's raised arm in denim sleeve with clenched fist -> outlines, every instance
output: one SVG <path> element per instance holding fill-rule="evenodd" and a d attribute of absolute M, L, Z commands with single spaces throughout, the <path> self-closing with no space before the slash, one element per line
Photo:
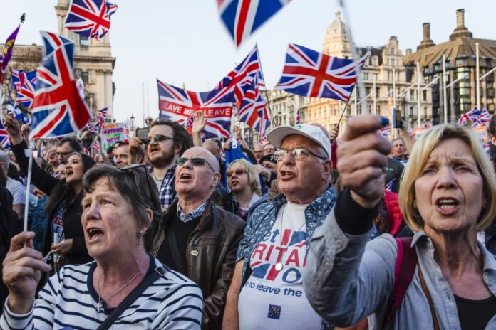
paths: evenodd
<path fill-rule="evenodd" d="M 382 124 L 377 116 L 348 122 L 338 149 L 341 180 L 348 188 L 311 238 L 304 273 L 306 297 L 334 326 L 351 326 L 374 312 L 383 314 L 393 286 L 393 238 L 367 243 L 391 149 L 376 134 Z"/>

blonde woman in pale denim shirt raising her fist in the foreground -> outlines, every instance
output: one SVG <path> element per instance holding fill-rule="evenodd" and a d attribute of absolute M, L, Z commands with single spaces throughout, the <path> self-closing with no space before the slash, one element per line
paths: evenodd
<path fill-rule="evenodd" d="M 470 129 L 429 129 L 413 147 L 399 193 L 413 240 L 404 245 L 384 234 L 367 243 L 391 150 L 376 134 L 386 122 L 377 116 L 348 122 L 338 151 L 348 188 L 311 238 L 306 297 L 335 326 L 371 315 L 369 329 L 495 329 L 496 259 L 477 241 L 496 215 L 490 159 Z M 401 304 L 386 317 L 405 270 L 400 259 L 414 260 L 407 262 L 412 277 Z"/>

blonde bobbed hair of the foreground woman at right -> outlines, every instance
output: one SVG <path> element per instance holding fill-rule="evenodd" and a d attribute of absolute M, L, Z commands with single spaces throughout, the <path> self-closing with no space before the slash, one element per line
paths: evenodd
<path fill-rule="evenodd" d="M 477 169 L 482 176 L 482 196 L 485 203 L 475 226 L 476 230 L 484 230 L 496 216 L 496 174 L 489 156 L 482 149 L 481 143 L 471 129 L 454 124 L 435 125 L 424 132 L 415 142 L 408 160 L 408 165 L 401 177 L 399 203 L 405 223 L 412 230 L 423 230 L 424 220 L 415 208 L 415 180 L 422 175 L 430 153 L 441 142 L 447 139 L 460 139 L 472 151 Z"/>

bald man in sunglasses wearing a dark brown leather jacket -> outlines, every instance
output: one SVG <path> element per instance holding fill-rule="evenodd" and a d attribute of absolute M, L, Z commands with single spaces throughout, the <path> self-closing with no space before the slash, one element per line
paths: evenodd
<path fill-rule="evenodd" d="M 221 329 L 245 223 L 212 201 L 220 176 L 213 154 L 193 147 L 176 164 L 178 198 L 162 218 L 152 253 L 202 289 L 202 329 Z"/>

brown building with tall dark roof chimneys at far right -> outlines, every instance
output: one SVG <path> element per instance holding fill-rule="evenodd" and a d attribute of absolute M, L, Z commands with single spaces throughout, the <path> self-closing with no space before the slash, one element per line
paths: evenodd
<path fill-rule="evenodd" d="M 413 68 L 417 63 L 426 82 L 433 84 L 433 122 L 443 122 L 443 55 L 445 55 L 447 82 L 446 92 L 448 106 L 448 122 L 455 122 L 460 114 L 477 105 L 477 73 L 476 73 L 476 44 L 479 44 L 480 77 L 480 107 L 487 107 L 490 113 L 495 111 L 495 80 L 496 71 L 496 40 L 473 38 L 472 33 L 465 27 L 465 11 L 456 11 L 456 27 L 450 35 L 450 40 L 435 45 L 430 40 L 430 23 L 423 24 L 423 41 L 415 53 L 405 55 L 403 62 L 407 68 Z"/>

